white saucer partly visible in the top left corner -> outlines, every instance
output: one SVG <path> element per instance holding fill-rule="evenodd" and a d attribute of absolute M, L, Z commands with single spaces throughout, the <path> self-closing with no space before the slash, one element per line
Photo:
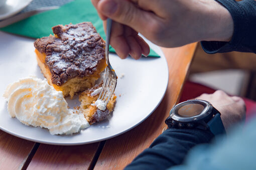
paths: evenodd
<path fill-rule="evenodd" d="M 24 9 L 32 0 L 7 0 L 0 6 L 0 20 L 12 16 Z"/>

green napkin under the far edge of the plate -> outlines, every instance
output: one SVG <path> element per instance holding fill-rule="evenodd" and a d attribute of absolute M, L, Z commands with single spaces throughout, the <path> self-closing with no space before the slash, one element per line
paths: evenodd
<path fill-rule="evenodd" d="M 83 21 L 91 21 L 96 27 L 97 32 L 105 39 L 102 20 L 99 18 L 90 0 L 74 0 L 58 9 L 30 16 L 29 18 L 0 28 L 0 30 L 32 38 L 40 38 L 53 34 L 52 26 L 69 23 L 76 24 Z M 109 48 L 109 51 L 115 52 L 112 47 Z M 159 57 L 152 49 L 150 50 L 149 56 Z"/>

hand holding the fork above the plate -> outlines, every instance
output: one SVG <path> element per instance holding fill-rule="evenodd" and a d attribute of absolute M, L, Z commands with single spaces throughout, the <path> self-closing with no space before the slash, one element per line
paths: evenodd
<path fill-rule="evenodd" d="M 233 20 L 215 0 L 91 0 L 101 19 L 113 19 L 110 44 L 125 58 L 149 53 L 138 35 L 160 46 L 176 47 L 201 40 L 231 39 Z M 104 21 L 105 25 L 105 21 Z"/>

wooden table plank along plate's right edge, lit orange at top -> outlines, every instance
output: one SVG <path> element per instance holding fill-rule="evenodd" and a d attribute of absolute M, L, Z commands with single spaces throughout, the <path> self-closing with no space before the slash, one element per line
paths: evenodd
<path fill-rule="evenodd" d="M 162 48 L 169 66 L 169 84 L 163 101 L 143 123 L 107 140 L 94 169 L 123 169 L 167 127 L 164 120 L 179 98 L 196 45 Z"/>

